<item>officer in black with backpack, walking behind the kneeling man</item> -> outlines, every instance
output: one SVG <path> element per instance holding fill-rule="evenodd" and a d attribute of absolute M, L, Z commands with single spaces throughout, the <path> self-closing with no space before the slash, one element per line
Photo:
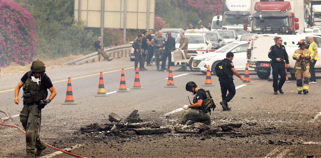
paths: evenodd
<path fill-rule="evenodd" d="M 236 94 L 235 85 L 233 82 L 234 80 L 233 74 L 235 74 L 237 77 L 239 77 L 242 80 L 242 82 L 244 82 L 239 72 L 236 71 L 234 68 L 234 64 L 232 62 L 233 57 L 234 57 L 234 54 L 232 52 L 228 52 L 226 54 L 226 58 L 221 61 L 222 64 L 224 64 L 222 65 L 222 68 L 224 68 L 224 71 L 222 71 L 223 73 L 219 74 L 215 70 L 216 75 L 219 77 L 220 86 L 221 86 L 222 101 L 220 102 L 220 104 L 223 108 L 223 111 L 231 110 L 231 108 L 229 108 L 228 102 L 230 102 L 230 100 L 232 100 L 232 98 Z M 229 91 L 229 94 L 227 94 L 227 91 Z"/>

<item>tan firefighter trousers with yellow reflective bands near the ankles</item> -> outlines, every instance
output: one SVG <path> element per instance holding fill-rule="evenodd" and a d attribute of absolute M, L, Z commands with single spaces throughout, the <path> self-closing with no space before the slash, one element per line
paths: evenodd
<path fill-rule="evenodd" d="M 310 69 L 307 70 L 296 69 L 295 78 L 297 78 L 297 88 L 298 92 L 301 92 L 303 89 L 309 90 L 309 79 L 311 77 Z M 303 82 L 303 84 L 302 84 Z M 303 87 L 302 87 L 303 85 Z"/>

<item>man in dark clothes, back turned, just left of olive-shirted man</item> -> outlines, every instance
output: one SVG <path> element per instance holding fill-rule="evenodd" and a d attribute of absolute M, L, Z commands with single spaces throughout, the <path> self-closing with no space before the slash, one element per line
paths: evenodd
<path fill-rule="evenodd" d="M 165 47 L 165 52 L 163 54 L 163 58 L 162 58 L 162 63 L 161 63 L 161 69 L 160 71 L 164 71 L 164 70 L 168 70 L 165 68 L 166 65 L 166 59 L 168 57 L 168 68 L 169 66 L 172 66 L 172 55 L 170 52 L 175 50 L 175 38 L 172 37 L 172 33 L 171 32 L 167 32 L 167 41 L 165 41 L 163 48 Z"/>

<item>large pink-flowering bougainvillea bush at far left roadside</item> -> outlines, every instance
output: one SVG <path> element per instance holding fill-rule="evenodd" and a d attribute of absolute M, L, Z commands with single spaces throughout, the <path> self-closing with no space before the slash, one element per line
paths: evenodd
<path fill-rule="evenodd" d="M 36 36 L 29 11 L 12 0 L 0 0 L 0 66 L 24 66 L 33 60 Z"/>

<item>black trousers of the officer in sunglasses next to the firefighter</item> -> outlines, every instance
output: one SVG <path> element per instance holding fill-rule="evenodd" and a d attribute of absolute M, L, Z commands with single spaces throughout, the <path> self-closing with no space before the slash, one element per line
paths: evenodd
<path fill-rule="evenodd" d="M 272 75 L 273 75 L 273 90 L 277 91 L 282 88 L 285 82 L 285 66 L 284 63 L 271 63 L 272 66 Z M 281 77 L 280 82 L 278 83 L 279 75 Z"/>

